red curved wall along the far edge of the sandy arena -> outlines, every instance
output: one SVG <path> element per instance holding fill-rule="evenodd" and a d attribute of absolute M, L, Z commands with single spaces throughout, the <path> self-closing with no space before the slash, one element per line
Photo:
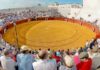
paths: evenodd
<path fill-rule="evenodd" d="M 62 20 L 62 21 L 72 22 L 72 23 L 75 23 L 75 24 L 85 26 L 85 27 L 89 28 L 90 30 L 92 30 L 93 32 L 96 33 L 95 38 L 100 38 L 100 31 L 96 26 L 92 25 L 91 23 L 72 19 L 72 18 L 54 18 L 54 17 L 46 17 L 46 18 L 43 17 L 42 18 L 42 17 L 40 17 L 40 18 L 36 18 L 36 19 L 32 19 L 32 18 L 23 19 L 23 20 L 16 21 L 15 23 L 18 25 L 18 24 L 22 24 L 22 23 L 28 22 L 28 21 L 38 21 L 38 20 L 46 20 L 46 19 L 47 20 Z M 12 22 L 6 23 L 5 27 L 0 27 L 0 34 L 4 33 L 4 28 L 9 29 L 13 26 L 14 26 L 14 24 Z"/>

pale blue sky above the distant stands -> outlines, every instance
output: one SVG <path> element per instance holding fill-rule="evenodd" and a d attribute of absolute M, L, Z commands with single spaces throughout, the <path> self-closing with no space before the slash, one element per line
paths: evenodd
<path fill-rule="evenodd" d="M 20 8 L 20 7 L 32 7 L 37 4 L 47 6 L 53 3 L 66 4 L 66 3 L 79 3 L 82 4 L 82 0 L 0 0 L 0 9 L 7 8 Z"/>

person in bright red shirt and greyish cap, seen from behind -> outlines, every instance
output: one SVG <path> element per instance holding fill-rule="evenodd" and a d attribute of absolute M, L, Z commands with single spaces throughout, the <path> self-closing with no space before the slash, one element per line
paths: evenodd
<path fill-rule="evenodd" d="M 77 64 L 77 70 L 91 70 L 92 59 L 89 58 L 87 52 L 81 52 L 79 55 L 81 62 Z"/>

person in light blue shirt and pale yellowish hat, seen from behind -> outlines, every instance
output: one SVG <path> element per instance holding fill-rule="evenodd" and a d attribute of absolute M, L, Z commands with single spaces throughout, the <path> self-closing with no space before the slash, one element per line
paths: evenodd
<path fill-rule="evenodd" d="M 33 70 L 33 56 L 29 53 L 26 45 L 21 47 L 22 53 L 17 55 L 18 70 Z"/>

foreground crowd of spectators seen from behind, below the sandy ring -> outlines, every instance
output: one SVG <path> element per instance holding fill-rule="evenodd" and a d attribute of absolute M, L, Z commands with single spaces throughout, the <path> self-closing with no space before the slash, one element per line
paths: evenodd
<path fill-rule="evenodd" d="M 100 70 L 99 42 L 94 39 L 83 48 L 57 51 L 6 46 L 0 48 L 0 63 L 2 70 Z"/>

